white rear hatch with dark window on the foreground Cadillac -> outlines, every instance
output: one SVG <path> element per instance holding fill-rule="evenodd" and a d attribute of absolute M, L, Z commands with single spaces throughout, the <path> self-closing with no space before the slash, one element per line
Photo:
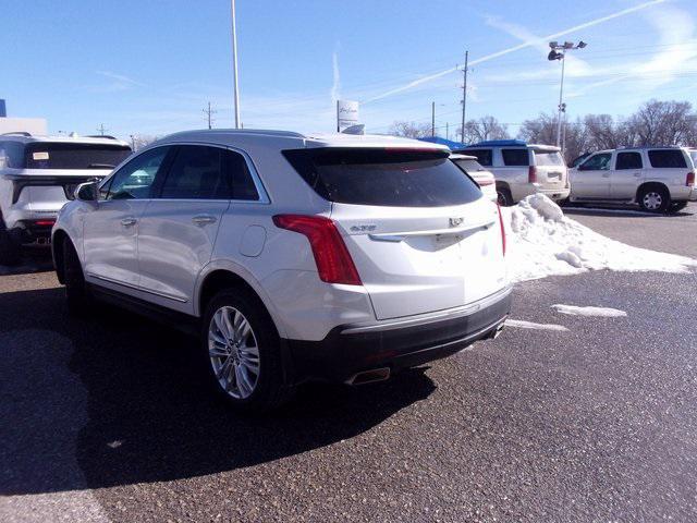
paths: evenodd
<path fill-rule="evenodd" d="M 332 202 L 378 319 L 458 307 L 505 285 L 497 207 L 444 149 L 290 150 Z"/>

